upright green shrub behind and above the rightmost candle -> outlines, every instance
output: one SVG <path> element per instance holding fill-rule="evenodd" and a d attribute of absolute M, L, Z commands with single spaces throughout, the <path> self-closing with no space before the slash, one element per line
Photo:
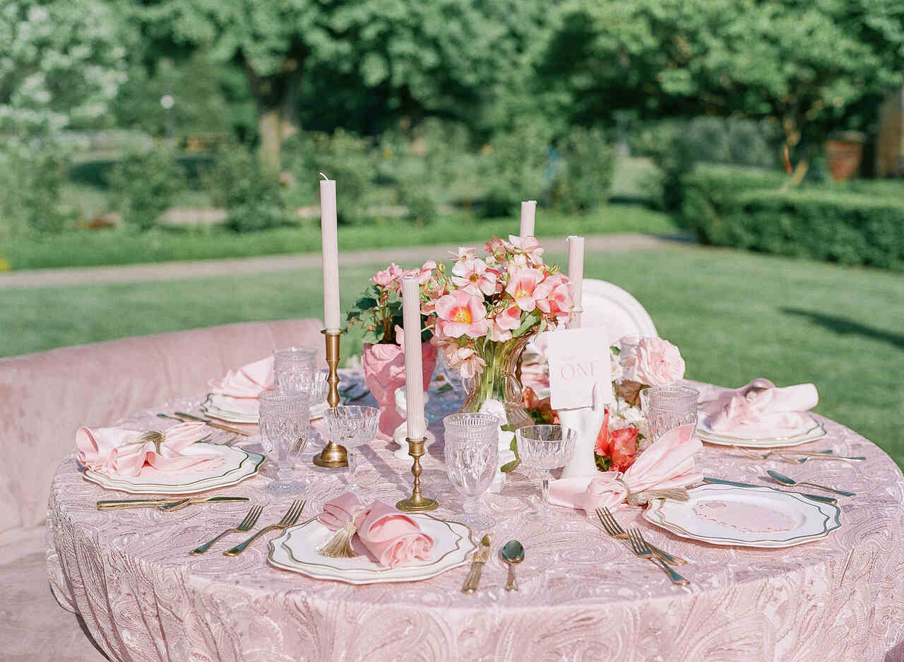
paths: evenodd
<path fill-rule="evenodd" d="M 560 142 L 563 166 L 555 175 L 553 199 L 567 213 L 587 212 L 605 203 L 612 176 L 615 152 L 602 131 L 572 128 Z"/>

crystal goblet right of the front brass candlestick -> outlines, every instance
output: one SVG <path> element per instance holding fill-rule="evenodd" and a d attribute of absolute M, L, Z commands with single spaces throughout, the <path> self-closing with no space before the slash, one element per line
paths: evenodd
<path fill-rule="evenodd" d="M 462 524 L 487 529 L 493 519 L 480 513 L 484 493 L 499 469 L 499 419 L 487 413 L 454 413 L 443 419 L 449 482 L 465 497 Z"/>

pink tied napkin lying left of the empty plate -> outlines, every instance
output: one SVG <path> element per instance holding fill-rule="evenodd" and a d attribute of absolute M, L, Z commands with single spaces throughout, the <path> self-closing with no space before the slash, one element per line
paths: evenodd
<path fill-rule="evenodd" d="M 596 476 L 562 478 L 550 483 L 550 503 L 579 508 L 588 514 L 595 508 L 615 507 L 632 493 L 648 489 L 686 487 L 703 479 L 693 456 L 703 445 L 693 425 L 669 430 L 641 453 L 624 475 L 606 471 Z M 621 478 L 621 480 L 618 480 Z M 624 481 L 624 483 L 622 482 Z"/>

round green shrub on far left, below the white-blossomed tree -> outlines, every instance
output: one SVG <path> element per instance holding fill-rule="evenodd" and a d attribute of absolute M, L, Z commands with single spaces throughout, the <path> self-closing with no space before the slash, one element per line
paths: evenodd
<path fill-rule="evenodd" d="M 146 232 L 185 188 L 185 171 L 173 150 L 161 146 L 123 157 L 110 172 L 108 184 L 123 221 Z"/>

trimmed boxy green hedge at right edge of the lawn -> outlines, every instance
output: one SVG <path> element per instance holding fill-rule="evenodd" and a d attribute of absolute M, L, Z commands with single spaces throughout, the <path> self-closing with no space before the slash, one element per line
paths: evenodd
<path fill-rule="evenodd" d="M 684 219 L 702 243 L 904 270 L 904 196 L 783 190 L 785 181 L 772 172 L 699 167 L 685 177 Z"/>

